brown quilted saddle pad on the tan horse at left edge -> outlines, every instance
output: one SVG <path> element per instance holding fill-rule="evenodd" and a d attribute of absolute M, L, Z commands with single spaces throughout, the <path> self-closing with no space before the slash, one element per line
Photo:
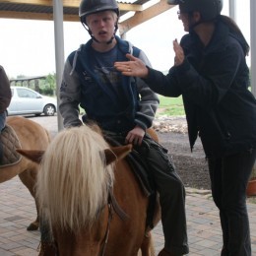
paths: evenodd
<path fill-rule="evenodd" d="M 6 125 L 2 130 L 0 139 L 3 148 L 3 160 L 0 168 L 14 165 L 22 160 L 22 156 L 16 151 L 22 148 L 20 141 L 15 130 L 10 125 Z"/>

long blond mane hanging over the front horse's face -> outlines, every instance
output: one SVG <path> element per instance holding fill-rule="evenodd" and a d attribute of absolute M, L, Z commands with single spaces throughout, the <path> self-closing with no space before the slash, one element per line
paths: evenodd
<path fill-rule="evenodd" d="M 37 197 L 41 216 L 71 231 L 94 224 L 113 183 L 113 165 L 105 165 L 108 145 L 88 126 L 60 132 L 40 164 Z"/>

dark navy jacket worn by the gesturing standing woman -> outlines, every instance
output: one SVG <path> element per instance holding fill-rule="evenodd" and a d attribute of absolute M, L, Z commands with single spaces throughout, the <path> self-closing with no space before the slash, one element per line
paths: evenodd
<path fill-rule="evenodd" d="M 206 47 L 195 32 L 182 37 L 185 60 L 166 76 L 149 68 L 153 91 L 183 96 L 191 150 L 199 135 L 208 158 L 256 148 L 256 99 L 248 90 L 244 43 L 219 21 Z"/>

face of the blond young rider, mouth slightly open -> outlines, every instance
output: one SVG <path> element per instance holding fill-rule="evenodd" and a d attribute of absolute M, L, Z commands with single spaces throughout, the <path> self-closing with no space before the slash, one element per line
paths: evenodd
<path fill-rule="evenodd" d="M 91 14 L 87 17 L 87 24 L 98 42 L 107 42 L 115 30 L 117 17 L 112 11 Z"/>

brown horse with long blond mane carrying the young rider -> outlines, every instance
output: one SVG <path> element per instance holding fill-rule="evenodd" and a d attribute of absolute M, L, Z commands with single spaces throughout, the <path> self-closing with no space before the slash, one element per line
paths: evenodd
<path fill-rule="evenodd" d="M 146 226 L 149 199 L 124 160 L 131 148 L 110 148 L 88 126 L 53 139 L 40 162 L 36 193 L 56 255 L 154 255 Z M 159 218 L 160 212 L 155 224 Z"/>

